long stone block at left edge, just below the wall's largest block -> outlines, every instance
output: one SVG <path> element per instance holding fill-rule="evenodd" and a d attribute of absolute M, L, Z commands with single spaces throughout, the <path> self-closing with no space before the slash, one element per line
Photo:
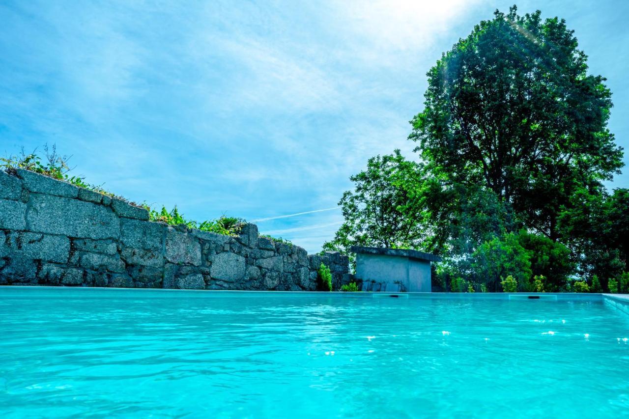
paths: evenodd
<path fill-rule="evenodd" d="M 2 237 L 0 235 L 0 237 Z M 0 257 L 40 259 L 48 262 L 67 263 L 70 255 L 70 239 L 42 233 L 12 232 L 0 243 Z"/>

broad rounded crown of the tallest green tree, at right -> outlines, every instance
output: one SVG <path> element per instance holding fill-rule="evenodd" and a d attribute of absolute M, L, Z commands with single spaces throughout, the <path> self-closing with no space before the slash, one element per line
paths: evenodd
<path fill-rule="evenodd" d="M 603 189 L 622 165 L 604 80 L 587 74 L 564 20 L 496 11 L 430 69 L 409 138 L 433 174 L 486 187 L 527 228 L 559 240 L 575 191 Z"/>

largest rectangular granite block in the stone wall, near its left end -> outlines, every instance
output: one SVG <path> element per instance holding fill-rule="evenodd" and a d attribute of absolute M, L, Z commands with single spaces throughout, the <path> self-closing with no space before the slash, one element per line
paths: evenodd
<path fill-rule="evenodd" d="M 31 194 L 26 222 L 29 230 L 81 238 L 118 238 L 120 221 L 102 205 L 77 199 Z"/>

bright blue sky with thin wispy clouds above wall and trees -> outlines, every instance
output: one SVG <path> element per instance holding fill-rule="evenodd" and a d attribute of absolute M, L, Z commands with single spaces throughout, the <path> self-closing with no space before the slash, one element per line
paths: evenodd
<path fill-rule="evenodd" d="M 267 219 L 261 232 L 316 252 L 350 175 L 394 148 L 415 158 L 426 71 L 512 3 L 2 0 L 0 154 L 56 143 L 75 174 L 126 198 Z M 629 2 L 518 8 L 576 31 L 627 148 Z"/>

